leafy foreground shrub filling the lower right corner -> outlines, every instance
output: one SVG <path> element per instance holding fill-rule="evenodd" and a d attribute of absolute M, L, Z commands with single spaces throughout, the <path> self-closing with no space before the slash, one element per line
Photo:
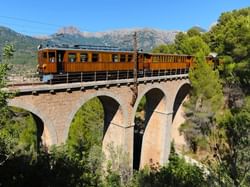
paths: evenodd
<path fill-rule="evenodd" d="M 214 157 L 219 172 L 235 186 L 249 186 L 250 176 L 250 98 L 239 111 L 228 111 L 215 130 Z"/>

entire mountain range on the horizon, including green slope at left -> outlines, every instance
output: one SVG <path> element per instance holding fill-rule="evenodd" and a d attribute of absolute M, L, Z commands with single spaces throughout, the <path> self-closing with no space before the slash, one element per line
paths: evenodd
<path fill-rule="evenodd" d="M 16 49 L 13 63 L 35 67 L 37 64 L 36 48 L 39 44 L 45 46 L 53 44 L 103 45 L 131 49 L 133 47 L 134 32 L 137 32 L 138 48 L 150 51 L 157 45 L 172 43 L 179 31 L 142 28 L 106 32 L 82 32 L 76 27 L 70 26 L 63 27 L 50 36 L 31 37 L 0 26 L 0 51 L 2 51 L 6 43 L 12 43 Z"/>

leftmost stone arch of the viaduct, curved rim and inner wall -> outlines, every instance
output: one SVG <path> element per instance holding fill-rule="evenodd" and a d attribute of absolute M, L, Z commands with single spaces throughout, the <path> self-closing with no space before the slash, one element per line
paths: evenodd
<path fill-rule="evenodd" d="M 42 141 L 45 146 L 56 145 L 58 143 L 58 137 L 52 122 L 43 115 L 34 105 L 29 103 L 20 102 L 16 99 L 11 99 L 8 101 L 9 106 L 22 108 L 29 111 L 33 116 L 35 121 L 40 120 L 43 123 L 43 127 L 38 127 L 42 130 Z M 40 123 L 40 122 L 39 122 Z"/>

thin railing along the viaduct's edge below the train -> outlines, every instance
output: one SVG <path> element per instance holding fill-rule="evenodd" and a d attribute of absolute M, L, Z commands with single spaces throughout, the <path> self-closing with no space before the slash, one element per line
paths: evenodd
<path fill-rule="evenodd" d="M 139 71 L 138 78 L 143 77 L 162 77 L 162 76 L 174 76 L 187 74 L 189 69 L 172 69 L 172 70 L 154 70 L 154 71 Z M 53 75 L 53 79 L 47 83 L 72 83 L 72 82 L 96 82 L 96 81 L 108 81 L 108 80 L 120 80 L 131 79 L 134 77 L 133 70 L 125 71 L 102 71 L 102 72 L 79 72 L 79 73 L 61 73 Z M 39 83 L 40 78 L 37 73 L 25 73 L 25 74 L 9 74 L 6 78 L 8 85 L 14 84 L 32 84 Z"/>

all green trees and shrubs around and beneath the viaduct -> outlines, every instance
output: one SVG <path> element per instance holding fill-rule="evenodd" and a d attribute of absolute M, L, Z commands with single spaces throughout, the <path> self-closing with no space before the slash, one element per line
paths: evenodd
<path fill-rule="evenodd" d="M 192 28 L 179 33 L 174 44 L 153 50 L 196 56 L 181 131 L 203 165 L 187 163 L 172 151 L 166 165 L 152 163 L 133 175 L 124 150 L 110 145 L 110 160 L 102 153 L 106 127 L 98 98 L 77 112 L 65 145 L 49 152 L 38 147 L 32 114 L 8 107 L 12 95 L 2 89 L 9 63 L 18 55 L 15 49 L 22 44 L 1 46 L 0 186 L 250 186 L 249 25 L 250 8 L 223 13 L 210 31 Z M 223 61 L 218 70 L 205 63 L 209 52 Z M 143 113 L 145 103 L 144 97 L 138 112 Z"/>

